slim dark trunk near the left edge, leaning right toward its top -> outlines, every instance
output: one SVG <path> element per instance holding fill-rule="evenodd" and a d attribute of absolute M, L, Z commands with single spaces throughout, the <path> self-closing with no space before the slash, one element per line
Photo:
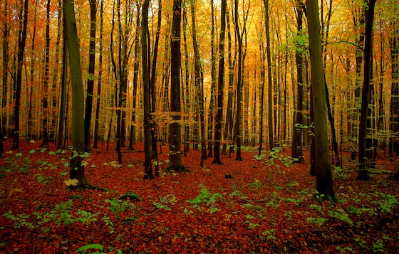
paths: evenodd
<path fill-rule="evenodd" d="M 21 0 L 22 4 L 22 0 Z M 19 33 L 18 33 L 18 55 L 16 59 L 16 79 L 15 79 L 15 106 L 14 106 L 14 134 L 13 149 L 19 149 L 19 110 L 21 106 L 21 86 L 22 86 L 22 67 L 24 65 L 24 54 L 26 46 L 26 31 L 28 27 L 28 0 L 24 0 L 19 14 Z"/>

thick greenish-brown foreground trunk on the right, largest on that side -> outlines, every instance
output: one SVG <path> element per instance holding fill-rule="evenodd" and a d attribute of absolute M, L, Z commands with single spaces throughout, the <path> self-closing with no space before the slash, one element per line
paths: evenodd
<path fill-rule="evenodd" d="M 324 80 L 323 55 L 321 49 L 320 20 L 317 0 L 307 0 L 306 10 L 309 30 L 311 58 L 311 90 L 314 107 L 314 142 L 316 148 L 316 190 L 334 198 L 330 152 L 328 150 L 328 123 L 326 86 Z"/>

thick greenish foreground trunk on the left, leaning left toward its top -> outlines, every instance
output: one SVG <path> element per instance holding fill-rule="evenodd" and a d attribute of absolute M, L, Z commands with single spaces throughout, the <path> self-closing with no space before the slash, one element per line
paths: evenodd
<path fill-rule="evenodd" d="M 83 166 L 83 152 L 85 151 L 85 123 L 84 123 L 84 94 L 81 68 L 81 54 L 76 30 L 75 8 L 73 0 L 63 0 L 63 18 L 66 27 L 68 43 L 69 70 L 72 83 L 72 155 L 69 171 L 70 179 L 77 179 L 78 186 L 88 185 Z"/>

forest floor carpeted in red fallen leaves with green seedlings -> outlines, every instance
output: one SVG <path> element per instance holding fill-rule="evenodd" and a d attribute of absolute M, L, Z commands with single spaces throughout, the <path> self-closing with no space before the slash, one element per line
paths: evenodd
<path fill-rule="evenodd" d="M 175 173 L 162 147 L 160 176 L 142 180 L 142 145 L 118 164 L 103 144 L 85 158 L 86 176 L 109 191 L 71 191 L 68 154 L 40 143 L 0 159 L 0 253 L 399 253 L 399 184 L 382 155 L 371 181 L 356 180 L 345 157 L 331 202 L 315 193 L 307 153 L 290 164 L 288 149 L 269 159 L 244 147 L 244 161 L 203 168 L 190 150 L 190 172 Z"/>

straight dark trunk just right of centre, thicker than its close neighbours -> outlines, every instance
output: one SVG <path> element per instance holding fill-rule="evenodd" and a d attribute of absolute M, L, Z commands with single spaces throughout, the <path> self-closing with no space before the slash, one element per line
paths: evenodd
<path fill-rule="evenodd" d="M 219 76 L 217 79 L 217 112 L 214 128 L 214 164 L 222 164 L 220 142 L 222 141 L 223 89 L 224 89 L 224 35 L 226 33 L 227 0 L 222 0 L 220 9 Z"/>

